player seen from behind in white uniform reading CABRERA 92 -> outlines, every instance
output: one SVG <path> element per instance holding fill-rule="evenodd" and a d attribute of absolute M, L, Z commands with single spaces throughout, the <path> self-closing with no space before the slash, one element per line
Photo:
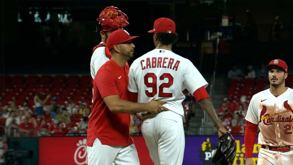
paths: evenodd
<path fill-rule="evenodd" d="M 181 165 L 185 148 L 183 129 L 186 88 L 193 94 L 218 128 L 221 136 L 227 131 L 217 118 L 212 101 L 205 88 L 206 80 L 190 60 L 172 52 L 177 40 L 175 23 L 169 18 L 154 21 L 153 33 L 156 48 L 134 60 L 129 70 L 130 99 L 149 102 L 152 99 L 167 102 L 169 111 L 141 112 L 142 134 L 155 165 Z"/>

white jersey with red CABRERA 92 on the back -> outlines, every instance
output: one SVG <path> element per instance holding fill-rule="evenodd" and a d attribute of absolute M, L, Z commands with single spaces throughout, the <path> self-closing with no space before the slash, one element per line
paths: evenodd
<path fill-rule="evenodd" d="M 182 117 L 182 101 L 186 88 L 190 93 L 208 86 L 207 81 L 193 63 L 166 49 L 154 49 L 134 60 L 128 73 L 130 92 L 138 92 L 138 102 L 160 100 Z M 138 116 L 147 112 L 138 113 Z"/>

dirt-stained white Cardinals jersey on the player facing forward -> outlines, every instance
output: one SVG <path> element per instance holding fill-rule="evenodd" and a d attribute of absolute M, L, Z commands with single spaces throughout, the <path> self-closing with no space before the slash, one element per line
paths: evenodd
<path fill-rule="evenodd" d="M 245 119 L 258 124 L 258 144 L 274 147 L 293 146 L 293 90 L 274 96 L 270 89 L 251 98 Z"/>

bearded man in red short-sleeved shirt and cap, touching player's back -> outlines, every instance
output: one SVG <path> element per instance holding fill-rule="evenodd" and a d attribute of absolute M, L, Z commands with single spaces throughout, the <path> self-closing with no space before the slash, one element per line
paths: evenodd
<path fill-rule="evenodd" d="M 133 57 L 133 38 L 125 30 L 111 33 L 107 47 L 112 58 L 98 70 L 93 82 L 93 107 L 88 121 L 88 165 L 139 165 L 133 140 L 130 137 L 130 113 L 158 113 L 168 108 L 165 102 L 151 100 L 134 103 L 128 100 L 128 66 Z"/>

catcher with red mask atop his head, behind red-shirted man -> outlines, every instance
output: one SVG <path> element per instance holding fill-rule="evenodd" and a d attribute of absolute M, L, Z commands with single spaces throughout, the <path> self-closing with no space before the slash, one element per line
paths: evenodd
<path fill-rule="evenodd" d="M 123 29 L 129 23 L 127 22 L 127 15 L 120 9 L 114 6 L 106 7 L 97 18 L 96 32 L 100 32 L 101 42 L 93 48 L 91 57 L 91 85 L 95 79 L 96 73 L 99 68 L 107 61 L 111 59 L 111 53 L 109 52 L 106 40 L 108 36 L 117 29 Z"/>

